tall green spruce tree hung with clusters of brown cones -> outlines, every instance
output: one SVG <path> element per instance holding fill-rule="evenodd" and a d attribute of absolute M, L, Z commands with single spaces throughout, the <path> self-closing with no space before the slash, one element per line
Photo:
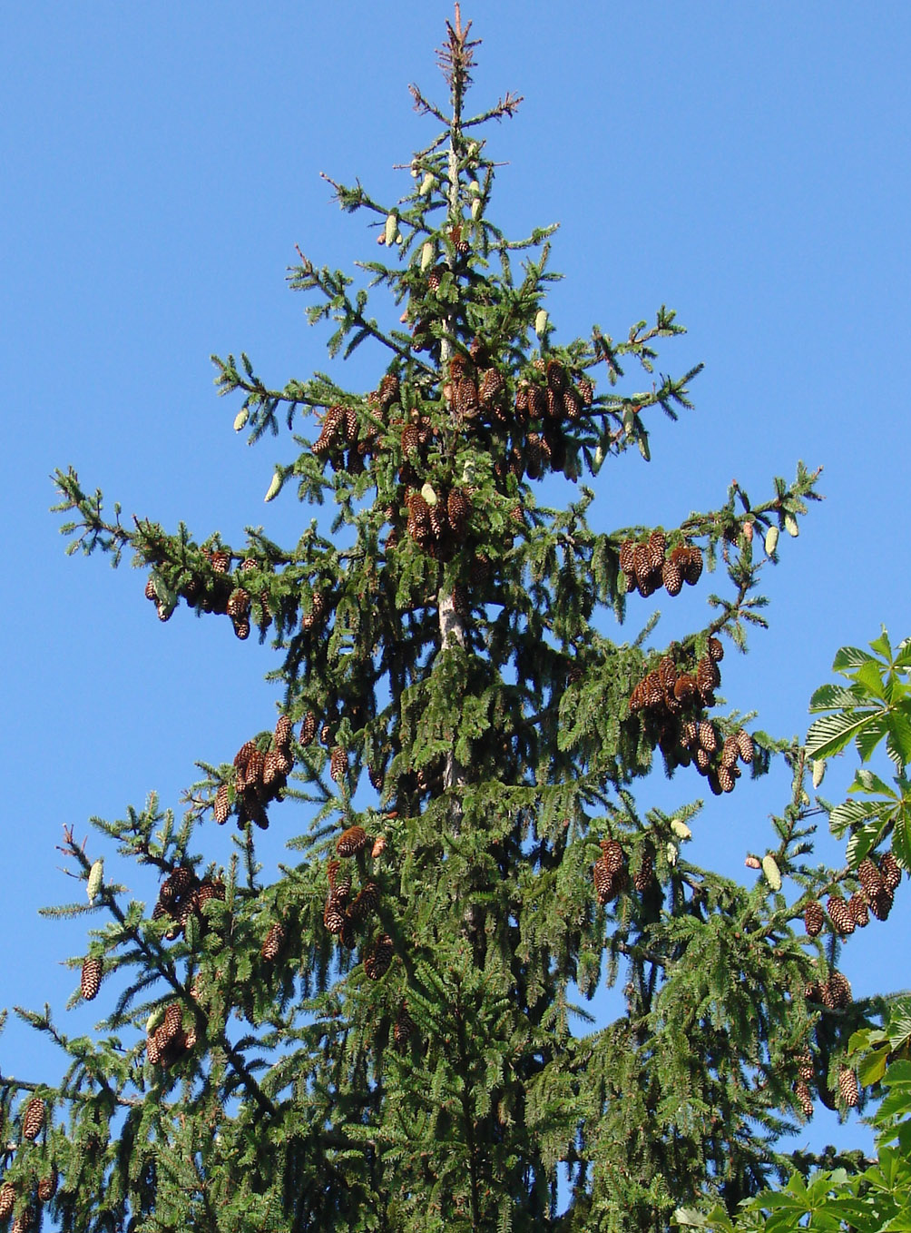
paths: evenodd
<path fill-rule="evenodd" d="M 80 1233 L 664 1229 L 680 1206 L 733 1211 L 815 1099 L 843 1105 L 870 1011 L 838 970 L 859 883 L 810 863 L 804 751 L 717 694 L 816 475 L 761 503 L 732 485 L 674 526 L 589 525 L 602 471 L 647 461 L 699 370 L 653 376 L 682 332 L 664 307 L 619 340 L 561 340 L 552 228 L 493 222 L 484 126 L 520 99 L 466 111 L 477 46 L 456 6 L 447 106 L 412 88 L 438 132 L 401 200 L 333 185 L 376 231 L 370 286 L 302 254 L 291 271 L 330 355 L 372 348 L 372 387 L 274 388 L 216 360 L 234 428 L 286 441 L 266 499 L 296 492 L 297 544 L 126 524 L 57 475 L 70 549 L 132 554 L 163 621 L 190 608 L 271 639 L 282 693 L 180 815 L 152 797 L 68 837 L 88 895 L 51 912 L 92 914 L 74 997 L 106 1017 L 71 1038 L 26 1015 L 68 1065 L 55 1088 L 0 1080 L 18 1229 L 42 1207 Z M 325 506 L 330 525 L 309 520 Z M 642 616 L 658 589 L 697 626 L 666 647 Z M 689 862 L 695 798 L 735 792 L 742 813 L 772 757 L 793 795 L 754 832 L 750 884 Z M 673 813 L 632 792 L 662 763 Z M 224 824 L 237 857 L 217 867 Z M 296 853 L 274 877 L 266 827 Z M 106 845 L 159 875 L 157 903 L 106 878 Z M 579 1031 L 605 981 L 623 1011 Z"/>

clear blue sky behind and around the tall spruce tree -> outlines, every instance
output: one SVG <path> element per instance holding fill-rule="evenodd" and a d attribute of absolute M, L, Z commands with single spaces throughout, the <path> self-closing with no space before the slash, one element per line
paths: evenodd
<path fill-rule="evenodd" d="M 159 626 L 139 573 L 67 559 L 48 473 L 71 462 L 127 515 L 184 518 L 200 538 L 219 528 L 239 541 L 250 523 L 297 538 L 309 514 L 290 496 L 263 503 L 286 445 L 250 451 L 234 436 L 237 403 L 216 398 L 208 355 L 247 350 L 275 383 L 325 366 L 323 337 L 284 286 L 293 245 L 345 268 L 376 250 L 318 173 L 360 176 L 386 199 L 408 190 L 393 164 L 434 126 L 406 86 L 443 96 L 433 48 L 450 15 L 436 0 L 7 6 L 0 1001 L 48 1000 L 68 1031 L 100 1002 L 63 1015 L 75 974 L 58 963 L 84 953 L 84 924 L 36 917 L 71 893 L 57 870 L 62 826 L 83 835 L 90 815 L 122 816 L 152 788 L 176 805 L 196 758 L 229 758 L 271 725 L 276 692 L 261 679 L 268 650 L 237 642 L 227 621 L 181 609 Z M 603 470 L 599 525 L 673 525 L 721 503 L 732 477 L 761 499 L 798 459 L 825 466 L 825 504 L 769 571 L 770 630 L 724 666 L 732 707 L 803 734 L 840 645 L 880 623 L 911 634 L 911 9 L 466 0 L 465 16 L 484 39 L 478 107 L 508 89 L 525 96 L 489 134 L 509 163 L 496 217 L 515 236 L 561 222 L 558 339 L 593 322 L 618 335 L 667 303 L 689 334 L 662 371 L 705 361 L 695 412 L 655 423 L 652 464 Z M 369 388 L 385 363 L 365 353 L 351 385 Z M 668 613 L 667 636 L 705 621 L 705 589 Z M 835 793 L 838 768 L 831 780 Z M 641 799 L 699 787 L 658 782 Z M 743 875 L 785 790 L 777 774 L 711 801 L 693 858 Z M 272 862 L 282 831 L 303 829 L 292 809 L 269 832 Z M 229 851 L 221 832 L 205 842 L 211 857 Z M 846 948 L 856 991 L 907 983 L 910 907 L 904 888 L 889 925 Z M 18 1028 L 0 1068 L 57 1070 Z M 831 1118 L 800 1142 L 836 1137 L 868 1142 Z"/>

